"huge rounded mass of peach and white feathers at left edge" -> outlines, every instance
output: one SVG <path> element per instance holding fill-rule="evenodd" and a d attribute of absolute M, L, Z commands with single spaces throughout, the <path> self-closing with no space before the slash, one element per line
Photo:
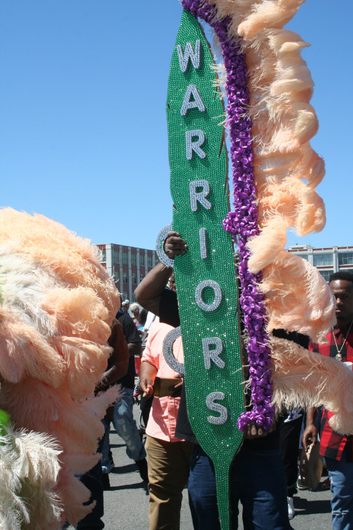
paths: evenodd
<path fill-rule="evenodd" d="M 92 505 L 75 475 L 100 458 L 94 396 L 119 293 L 95 247 L 42 215 L 0 210 L 0 527 L 60 529 Z"/>

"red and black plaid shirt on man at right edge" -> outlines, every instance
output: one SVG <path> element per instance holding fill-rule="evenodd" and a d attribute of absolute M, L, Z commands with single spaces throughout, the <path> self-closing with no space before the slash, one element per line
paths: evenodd
<path fill-rule="evenodd" d="M 338 354 L 338 350 L 340 350 L 340 346 L 342 346 L 343 341 L 345 340 L 345 334 L 342 334 L 340 329 L 336 326 L 333 329 L 333 332 L 331 330 L 331 332 L 326 335 L 326 339 L 328 339 L 328 344 L 313 344 L 310 342 L 309 350 L 320 353 L 321 355 L 325 355 L 326 357 L 335 358 L 335 356 Z M 335 345 L 335 340 L 337 342 L 338 350 Z M 345 346 L 342 348 L 341 355 L 342 361 L 353 362 L 353 331 L 349 332 Z M 333 412 L 329 412 L 326 409 L 322 410 L 320 454 L 322 456 L 334 458 L 335 460 L 340 460 L 343 449 L 345 449 L 345 446 L 347 445 L 347 460 L 353 461 L 352 436 L 342 436 L 336 433 L 328 425 L 328 420 L 332 418 L 332 416 Z"/>

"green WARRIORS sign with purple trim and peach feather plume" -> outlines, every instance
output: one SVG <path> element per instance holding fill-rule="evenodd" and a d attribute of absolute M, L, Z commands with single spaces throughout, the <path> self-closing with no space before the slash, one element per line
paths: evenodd
<path fill-rule="evenodd" d="M 283 29 L 303 1 L 181 0 L 169 73 L 174 209 L 157 251 L 165 265 L 174 266 L 188 417 L 214 462 L 224 528 L 224 470 L 249 423 L 268 429 L 284 405 L 324 404 L 335 412 L 330 421 L 336 430 L 353 432 L 353 374 L 272 335 L 280 328 L 320 342 L 335 321 L 335 303 L 319 271 L 284 250 L 288 229 L 305 236 L 325 224 L 324 203 L 315 191 L 324 161 L 310 146 L 318 127 L 310 104 L 314 83 L 300 56 L 307 43 Z M 213 55 L 201 22 L 206 32 L 213 29 Z M 224 124 L 233 170 L 231 211 Z M 173 263 L 163 257 L 161 243 L 170 229 L 188 244 L 185 256 Z M 237 272 L 230 234 L 240 257 Z M 243 360 L 237 275 L 247 344 Z M 177 334 L 165 342 L 169 359 Z M 245 411 L 244 364 L 251 386 Z"/>

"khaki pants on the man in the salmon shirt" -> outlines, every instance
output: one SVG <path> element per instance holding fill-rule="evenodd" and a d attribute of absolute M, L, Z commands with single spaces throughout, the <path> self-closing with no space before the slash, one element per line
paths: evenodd
<path fill-rule="evenodd" d="M 179 530 L 192 448 L 191 442 L 165 442 L 147 436 L 150 530 Z"/>

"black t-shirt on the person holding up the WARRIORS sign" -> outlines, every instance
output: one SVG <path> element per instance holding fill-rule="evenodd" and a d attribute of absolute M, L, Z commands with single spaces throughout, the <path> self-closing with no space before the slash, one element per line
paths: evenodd
<path fill-rule="evenodd" d="M 180 325 L 179 318 L 179 307 L 177 293 L 165 289 L 160 297 L 160 322 L 165 322 L 171 326 L 177 327 Z M 181 389 L 181 398 L 179 405 L 179 413 L 177 418 L 177 426 L 175 428 L 175 435 L 178 438 L 188 440 L 190 442 L 197 443 L 195 434 L 191 428 L 190 422 L 188 421 L 188 413 L 186 409 L 186 394 L 185 386 Z M 278 449 L 279 448 L 279 432 L 275 430 L 273 433 L 266 435 L 265 437 L 254 438 L 253 440 L 247 440 L 244 438 L 242 449 L 250 451 L 263 451 L 265 449 Z"/>

